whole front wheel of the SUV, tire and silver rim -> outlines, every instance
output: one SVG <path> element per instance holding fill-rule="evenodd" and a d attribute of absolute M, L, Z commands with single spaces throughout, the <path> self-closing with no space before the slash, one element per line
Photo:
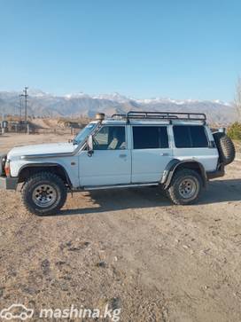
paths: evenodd
<path fill-rule="evenodd" d="M 66 185 L 51 172 L 40 172 L 30 177 L 22 190 L 23 204 L 38 216 L 53 215 L 66 202 Z"/>

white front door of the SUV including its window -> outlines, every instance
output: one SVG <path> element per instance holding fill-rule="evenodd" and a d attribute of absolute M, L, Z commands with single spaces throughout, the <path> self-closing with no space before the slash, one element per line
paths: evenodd
<path fill-rule="evenodd" d="M 131 155 L 125 126 L 104 125 L 93 137 L 94 153 L 79 155 L 81 186 L 128 185 Z"/>

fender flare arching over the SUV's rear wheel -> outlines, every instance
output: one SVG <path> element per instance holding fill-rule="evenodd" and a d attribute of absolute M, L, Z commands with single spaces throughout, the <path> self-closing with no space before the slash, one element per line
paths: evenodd
<path fill-rule="evenodd" d="M 202 163 L 200 163 L 197 160 L 194 159 L 187 159 L 187 160 L 178 160 L 178 159 L 173 159 L 169 161 L 167 164 L 166 169 L 163 172 L 163 175 L 160 180 L 160 184 L 163 185 L 164 189 L 167 189 L 169 185 L 171 184 L 172 178 L 175 174 L 175 171 L 181 166 L 181 165 L 187 165 L 186 168 L 188 168 L 188 164 L 194 164 L 195 168 L 199 169 L 201 173 L 201 177 L 203 179 L 203 184 L 206 187 L 206 182 L 207 182 L 207 177 L 206 177 L 206 170 L 204 169 L 204 166 Z"/>

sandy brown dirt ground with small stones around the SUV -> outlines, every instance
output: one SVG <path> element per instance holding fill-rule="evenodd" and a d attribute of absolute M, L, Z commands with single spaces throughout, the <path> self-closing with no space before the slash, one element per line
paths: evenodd
<path fill-rule="evenodd" d="M 67 138 L 8 135 L 0 150 Z M 41 308 L 108 303 L 124 322 L 241 320 L 240 161 L 197 205 L 151 187 L 78 192 L 58 216 L 38 217 L 19 192 L 0 191 L 0 221 L 1 310 L 22 303 L 43 321 Z"/>

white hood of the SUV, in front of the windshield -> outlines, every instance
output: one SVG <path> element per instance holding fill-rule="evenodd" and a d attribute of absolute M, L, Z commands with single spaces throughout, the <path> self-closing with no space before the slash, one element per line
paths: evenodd
<path fill-rule="evenodd" d="M 50 143 L 43 145 L 16 146 L 8 153 L 8 159 L 23 155 L 48 154 L 48 153 L 72 153 L 76 149 L 73 143 Z"/>

